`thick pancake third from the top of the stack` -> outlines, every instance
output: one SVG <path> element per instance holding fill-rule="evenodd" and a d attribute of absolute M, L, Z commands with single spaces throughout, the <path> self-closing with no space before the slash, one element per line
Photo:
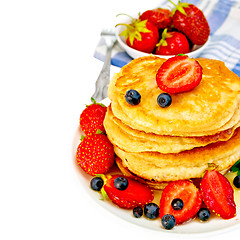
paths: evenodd
<path fill-rule="evenodd" d="M 240 158 L 240 128 L 228 141 L 180 153 L 131 153 L 117 146 L 114 150 L 124 167 L 144 179 L 161 182 L 200 178 L 209 164 L 214 164 L 218 171 L 224 171 Z"/>

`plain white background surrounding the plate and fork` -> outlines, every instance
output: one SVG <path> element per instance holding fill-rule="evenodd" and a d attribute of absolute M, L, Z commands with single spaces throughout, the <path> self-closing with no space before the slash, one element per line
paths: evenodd
<path fill-rule="evenodd" d="M 72 158 L 80 109 L 102 67 L 93 58 L 101 29 L 157 4 L 0 2 L 0 239 L 176 239 L 92 201 Z"/>

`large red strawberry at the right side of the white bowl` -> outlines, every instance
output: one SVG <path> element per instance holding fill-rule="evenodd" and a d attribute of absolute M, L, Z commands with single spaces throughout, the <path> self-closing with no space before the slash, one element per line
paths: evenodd
<path fill-rule="evenodd" d="M 173 3 L 171 0 L 169 2 Z M 174 3 L 173 3 L 174 4 Z M 193 44 L 203 45 L 208 40 L 210 28 L 203 12 L 193 4 L 174 4 L 172 10 L 174 27 L 184 33 Z"/>

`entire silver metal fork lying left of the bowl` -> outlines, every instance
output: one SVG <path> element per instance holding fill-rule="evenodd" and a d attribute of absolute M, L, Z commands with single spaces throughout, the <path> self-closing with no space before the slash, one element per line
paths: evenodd
<path fill-rule="evenodd" d="M 101 36 L 104 38 L 106 43 L 106 55 L 104 59 L 104 64 L 102 70 L 95 83 L 95 92 L 92 95 L 97 102 L 103 100 L 107 97 L 108 83 L 110 81 L 110 65 L 111 65 L 111 53 L 113 45 L 116 42 L 116 36 L 113 30 L 103 29 L 101 31 Z"/>

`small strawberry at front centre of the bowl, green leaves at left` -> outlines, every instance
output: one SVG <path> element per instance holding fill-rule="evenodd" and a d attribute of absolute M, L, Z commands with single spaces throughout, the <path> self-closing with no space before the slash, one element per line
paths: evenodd
<path fill-rule="evenodd" d="M 177 55 L 190 51 L 186 36 L 180 32 L 168 32 L 167 28 L 164 29 L 162 38 L 156 47 L 155 54 L 157 55 Z"/>

